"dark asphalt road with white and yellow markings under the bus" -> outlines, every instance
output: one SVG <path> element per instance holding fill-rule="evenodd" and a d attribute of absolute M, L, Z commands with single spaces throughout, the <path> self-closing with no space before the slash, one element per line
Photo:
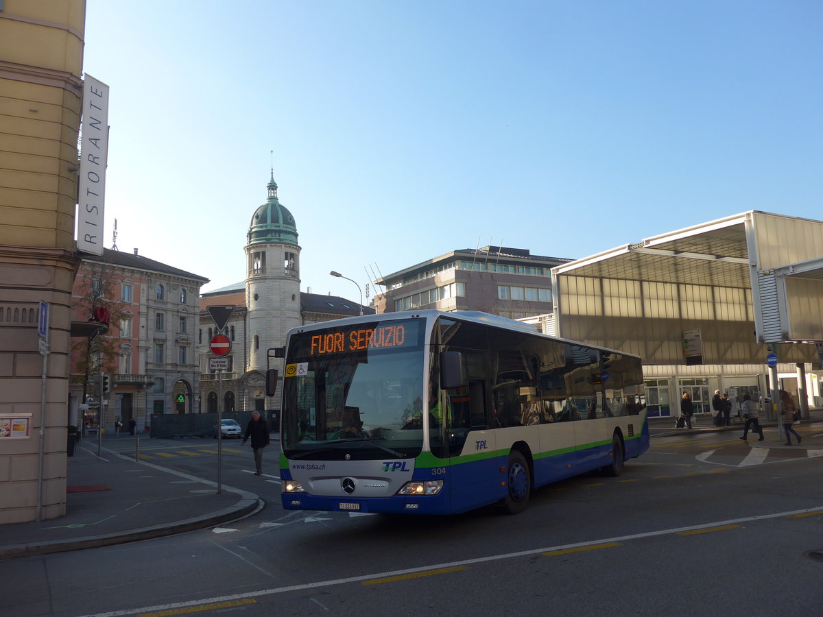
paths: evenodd
<path fill-rule="evenodd" d="M 142 452 L 215 480 L 216 457 L 197 453 L 213 446 L 151 440 Z M 817 614 L 821 459 L 755 449 L 737 433 L 660 435 L 622 476 L 539 489 L 518 516 L 432 518 L 285 512 L 277 447 L 258 477 L 250 449 L 226 441 L 222 481 L 266 508 L 223 528 L 2 562 L 0 614 Z"/>

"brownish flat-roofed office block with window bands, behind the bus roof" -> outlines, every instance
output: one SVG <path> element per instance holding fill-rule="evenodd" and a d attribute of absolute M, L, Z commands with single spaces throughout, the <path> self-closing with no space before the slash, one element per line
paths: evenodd
<path fill-rule="evenodd" d="M 378 313 L 414 308 L 477 310 L 518 319 L 551 313 L 551 268 L 570 262 L 525 248 L 463 248 L 374 281 Z"/>

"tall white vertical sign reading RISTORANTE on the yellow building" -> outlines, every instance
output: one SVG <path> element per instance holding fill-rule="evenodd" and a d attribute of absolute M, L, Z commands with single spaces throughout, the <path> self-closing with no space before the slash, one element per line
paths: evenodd
<path fill-rule="evenodd" d="M 103 254 L 105 167 L 109 150 L 109 86 L 86 73 L 77 181 L 77 249 Z"/>

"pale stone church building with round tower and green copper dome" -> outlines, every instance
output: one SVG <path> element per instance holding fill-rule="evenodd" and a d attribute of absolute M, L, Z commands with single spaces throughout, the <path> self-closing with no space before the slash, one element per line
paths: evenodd
<path fill-rule="evenodd" d="M 267 198 L 254 211 L 244 248 L 244 281 L 227 285 L 200 297 L 198 354 L 200 357 L 200 401 L 195 411 L 216 412 L 220 391 L 222 411 L 232 417 L 240 411 L 265 411 L 267 420 L 277 420 L 280 411 L 282 377 L 277 395 L 266 396 L 266 370 L 279 369 L 282 359 L 274 348 L 286 345 L 292 327 L 330 319 L 374 313 L 357 302 L 332 295 L 300 291 L 300 245 L 291 212 L 277 197 L 274 173 L 266 185 Z M 222 330 L 229 337 L 229 366 L 218 383 L 216 371 L 209 371 L 209 341 L 218 333 L 208 311 L 210 306 L 234 306 Z"/>

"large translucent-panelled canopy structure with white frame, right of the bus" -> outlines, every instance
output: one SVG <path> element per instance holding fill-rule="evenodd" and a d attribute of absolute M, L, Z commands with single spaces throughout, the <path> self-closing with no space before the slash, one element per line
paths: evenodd
<path fill-rule="evenodd" d="M 716 389 L 769 397 L 775 381 L 804 415 L 823 406 L 819 220 L 743 212 L 583 257 L 551 276 L 554 313 L 532 321 L 639 355 L 651 415 L 677 415 L 683 392 L 700 411 L 710 411 Z"/>

